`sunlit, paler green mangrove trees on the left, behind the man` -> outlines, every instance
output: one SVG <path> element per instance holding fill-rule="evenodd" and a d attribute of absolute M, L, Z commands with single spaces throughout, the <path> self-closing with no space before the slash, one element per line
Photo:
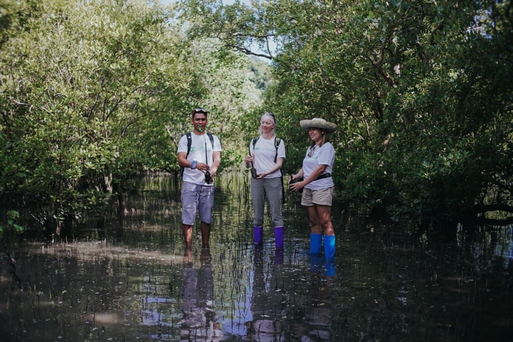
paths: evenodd
<path fill-rule="evenodd" d="M 57 233 L 101 212 L 135 172 L 176 173 L 193 107 L 236 151 L 231 119 L 261 97 L 248 58 L 188 39 L 172 8 L 27 0 L 1 13 L 0 195 Z"/>

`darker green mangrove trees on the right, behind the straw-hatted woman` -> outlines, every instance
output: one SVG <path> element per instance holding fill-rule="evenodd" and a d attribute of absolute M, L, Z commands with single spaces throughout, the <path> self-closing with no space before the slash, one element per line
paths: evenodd
<path fill-rule="evenodd" d="M 339 125 L 343 198 L 398 221 L 513 212 L 509 1 L 186 6 L 203 18 L 193 34 L 272 60 L 264 107 L 282 117 L 296 164 L 300 119 Z"/>

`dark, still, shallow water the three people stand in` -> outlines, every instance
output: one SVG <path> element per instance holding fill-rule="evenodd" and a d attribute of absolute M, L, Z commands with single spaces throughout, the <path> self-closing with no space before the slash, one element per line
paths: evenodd
<path fill-rule="evenodd" d="M 120 228 L 69 243 L 12 246 L 22 289 L 2 272 L 3 340 L 511 340 L 513 227 L 442 241 L 412 227 L 344 217 L 333 207 L 334 267 L 310 257 L 296 195 L 286 239 L 252 244 L 246 177 L 223 176 L 210 249 L 182 243 L 180 191 L 139 179 Z M 270 216 L 270 215 L 267 215 Z"/>

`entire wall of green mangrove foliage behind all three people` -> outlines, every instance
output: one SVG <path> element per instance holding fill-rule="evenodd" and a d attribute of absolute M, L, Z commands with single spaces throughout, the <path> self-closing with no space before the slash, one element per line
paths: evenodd
<path fill-rule="evenodd" d="M 295 172 L 299 120 L 324 117 L 357 207 L 413 222 L 513 212 L 509 1 L 0 4 L 0 196 L 52 231 L 122 200 L 137 171 L 176 174 L 195 106 L 224 167 L 273 111 Z"/>

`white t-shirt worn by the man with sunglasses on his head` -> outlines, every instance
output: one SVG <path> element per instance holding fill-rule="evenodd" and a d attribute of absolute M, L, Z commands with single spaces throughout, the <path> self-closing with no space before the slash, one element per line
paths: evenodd
<path fill-rule="evenodd" d="M 213 135 L 213 134 L 212 134 Z M 187 160 L 198 160 L 198 163 L 206 163 L 208 166 L 212 166 L 212 152 L 213 151 L 222 151 L 221 142 L 219 138 L 215 135 L 214 137 L 214 146 L 212 149 L 212 143 L 210 143 L 210 138 L 207 133 L 203 135 L 196 135 L 194 132 L 191 132 L 191 149 L 189 151 L 189 155 L 187 156 Z M 207 151 L 205 153 L 205 146 Z M 184 135 L 180 138 L 180 142 L 178 143 L 178 153 L 184 152 L 187 153 L 187 135 Z M 208 160 L 206 160 L 206 158 Z M 190 168 L 184 169 L 184 182 L 199 184 L 199 185 L 210 185 L 205 183 L 205 174 L 198 169 L 191 170 Z"/>

